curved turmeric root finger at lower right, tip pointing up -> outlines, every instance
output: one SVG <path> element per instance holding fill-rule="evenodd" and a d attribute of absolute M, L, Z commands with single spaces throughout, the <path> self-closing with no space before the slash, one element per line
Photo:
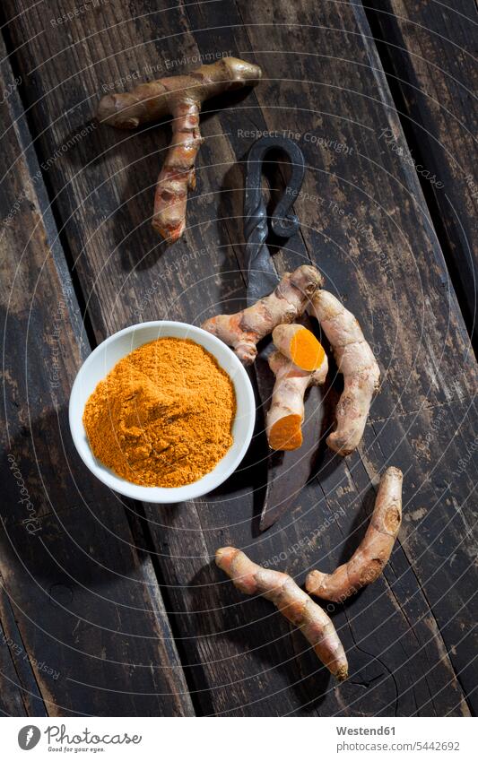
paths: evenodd
<path fill-rule="evenodd" d="M 392 552 L 402 521 L 402 471 L 387 468 L 380 480 L 375 508 L 367 533 L 352 558 L 333 574 L 311 571 L 306 579 L 309 594 L 343 602 L 362 586 L 378 579 Z"/>

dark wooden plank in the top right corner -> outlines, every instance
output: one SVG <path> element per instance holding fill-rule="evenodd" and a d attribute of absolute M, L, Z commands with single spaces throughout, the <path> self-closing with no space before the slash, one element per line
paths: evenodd
<path fill-rule="evenodd" d="M 372 30 L 383 40 L 379 53 L 402 112 L 411 157 L 434 202 L 433 219 L 468 330 L 476 339 L 476 4 L 372 0 L 367 5 Z M 385 151 L 405 148 L 393 134 L 385 134 L 383 143 Z"/>

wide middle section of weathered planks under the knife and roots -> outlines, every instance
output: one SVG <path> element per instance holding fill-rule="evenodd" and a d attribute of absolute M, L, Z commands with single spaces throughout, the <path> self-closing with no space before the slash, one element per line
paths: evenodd
<path fill-rule="evenodd" d="M 48 5 L 52 18 L 61 6 Z M 321 268 L 361 317 L 384 378 L 360 454 L 344 462 L 321 451 L 317 477 L 269 532 L 257 532 L 264 471 L 254 447 L 207 498 L 135 506 L 135 542 L 151 553 L 196 712 L 466 715 L 476 700 L 476 368 L 415 171 L 380 138 L 388 128 L 403 136 L 365 15 L 286 0 L 168 7 L 133 2 L 126 18 L 124 4 L 102 4 L 56 26 L 32 8 L 8 27 L 13 48 L 30 39 L 13 58 L 95 339 L 146 319 L 200 324 L 244 303 L 243 160 L 256 131 L 291 130 L 308 172 L 295 207 L 301 236 L 275 255 L 277 268 Z M 122 78 L 127 87 L 136 72 L 187 71 L 218 52 L 256 60 L 265 79 L 204 109 L 187 233 L 165 249 L 149 218 L 169 128 L 126 134 L 91 116 Z M 387 464 L 405 472 L 404 528 L 384 578 L 333 613 L 352 670 L 335 687 L 265 601 L 232 588 L 213 553 L 234 543 L 300 583 L 312 566 L 332 569 L 364 532 L 371 482 Z"/>

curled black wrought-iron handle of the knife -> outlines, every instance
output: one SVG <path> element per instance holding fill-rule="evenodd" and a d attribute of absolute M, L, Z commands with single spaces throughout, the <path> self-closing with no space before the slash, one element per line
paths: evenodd
<path fill-rule="evenodd" d="M 280 238 L 291 238 L 300 227 L 291 206 L 299 194 L 304 179 L 305 160 L 297 143 L 287 137 L 261 137 L 248 152 L 246 188 L 244 194 L 244 236 L 247 241 L 248 304 L 263 298 L 274 290 L 278 278 L 271 255 L 265 246 L 267 238 L 267 210 L 262 192 L 262 169 L 265 155 L 279 150 L 291 162 L 291 177 L 281 200 L 274 210 L 271 227 Z M 255 275 L 256 273 L 256 275 Z"/>

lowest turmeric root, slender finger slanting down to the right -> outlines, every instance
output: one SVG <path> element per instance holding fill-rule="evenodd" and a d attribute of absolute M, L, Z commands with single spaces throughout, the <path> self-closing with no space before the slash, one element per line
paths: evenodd
<path fill-rule="evenodd" d="M 230 576 L 239 592 L 260 594 L 274 605 L 282 616 L 299 627 L 314 652 L 336 679 L 348 676 L 348 663 L 334 624 L 291 576 L 257 566 L 244 552 L 222 547 L 216 552 L 216 565 Z"/>

